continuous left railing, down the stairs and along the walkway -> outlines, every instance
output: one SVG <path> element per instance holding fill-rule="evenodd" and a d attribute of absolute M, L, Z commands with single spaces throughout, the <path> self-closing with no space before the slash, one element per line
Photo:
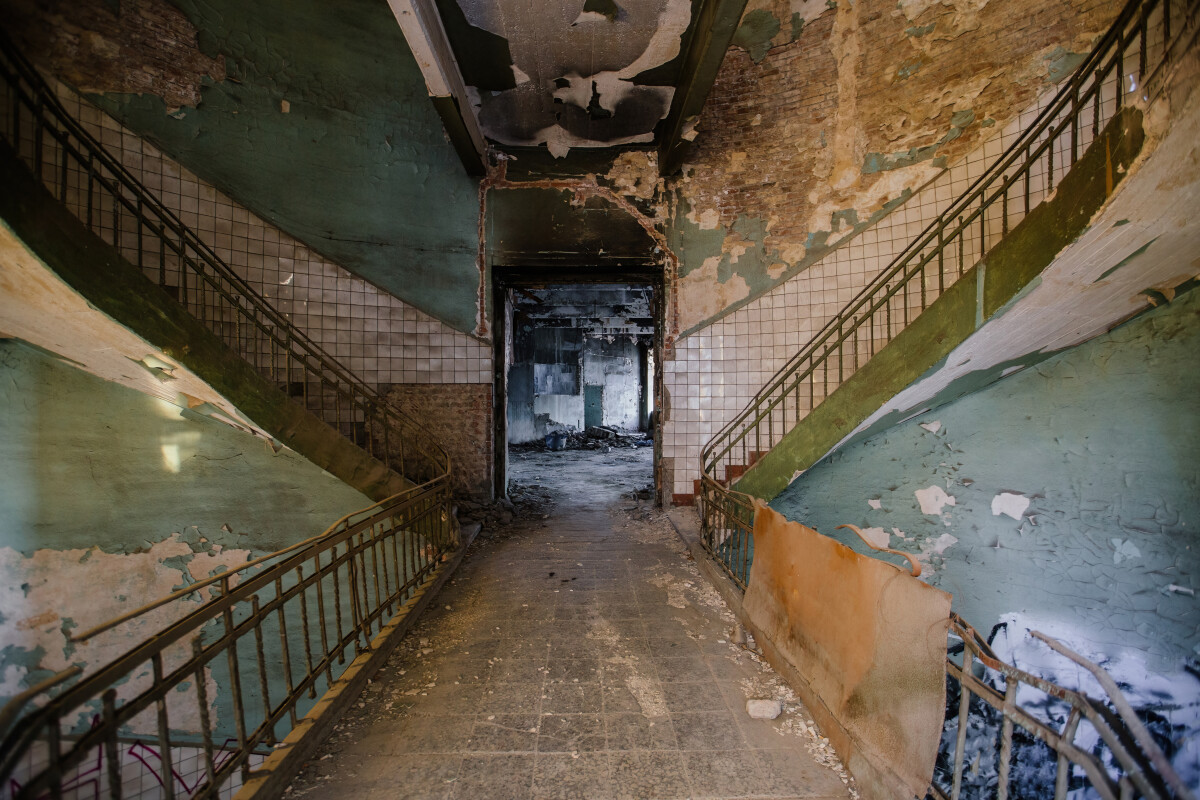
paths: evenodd
<path fill-rule="evenodd" d="M 56 199 L 227 345 L 412 483 L 319 536 L 73 636 L 82 642 L 170 603 L 200 600 L 186 612 L 162 613 L 178 619 L 55 696 L 46 690 L 78 670 L 23 692 L 22 704 L 40 699 L 41 706 L 0 729 L 4 796 L 62 796 L 83 783 L 97 795 L 124 796 L 130 765 L 150 770 L 130 748 L 131 738 L 136 747 L 149 741 L 156 748 L 151 777 L 162 796 L 228 794 L 250 776 L 263 748 L 281 740 L 281 729 L 294 728 L 335 684 L 347 656 L 367 651 L 436 579 L 457 545 L 450 458 L 108 154 L 4 31 L 0 138 Z M 184 763 L 194 765 L 191 772 Z"/>

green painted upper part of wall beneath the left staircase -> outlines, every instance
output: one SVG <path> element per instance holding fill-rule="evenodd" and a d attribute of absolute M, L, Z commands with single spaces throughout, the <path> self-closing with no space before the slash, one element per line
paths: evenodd
<path fill-rule="evenodd" d="M 293 451 L 17 342 L 0 368 L 0 547 L 25 557 L 79 548 L 86 564 L 173 534 L 193 554 L 272 552 L 371 504 Z"/>

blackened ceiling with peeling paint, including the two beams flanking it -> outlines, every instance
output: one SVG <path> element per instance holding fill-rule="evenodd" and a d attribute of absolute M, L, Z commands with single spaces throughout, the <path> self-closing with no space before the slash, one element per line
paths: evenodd
<path fill-rule="evenodd" d="M 746 0 L 389 2 L 468 172 L 637 146 L 666 174 Z"/>

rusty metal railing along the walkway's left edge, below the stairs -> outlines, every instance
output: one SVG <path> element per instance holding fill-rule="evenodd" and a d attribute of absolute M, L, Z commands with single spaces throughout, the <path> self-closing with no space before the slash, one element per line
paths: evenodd
<path fill-rule="evenodd" d="M 0 729 L 0 798 L 229 796 L 455 546 L 439 479 L 72 637 L 209 596 Z"/>

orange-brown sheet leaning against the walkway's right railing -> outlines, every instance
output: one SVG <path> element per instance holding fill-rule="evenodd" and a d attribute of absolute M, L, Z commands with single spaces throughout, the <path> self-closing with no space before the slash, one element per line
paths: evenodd
<path fill-rule="evenodd" d="M 750 621 L 876 775 L 924 796 L 946 708 L 950 595 L 762 504 L 754 545 Z"/>

